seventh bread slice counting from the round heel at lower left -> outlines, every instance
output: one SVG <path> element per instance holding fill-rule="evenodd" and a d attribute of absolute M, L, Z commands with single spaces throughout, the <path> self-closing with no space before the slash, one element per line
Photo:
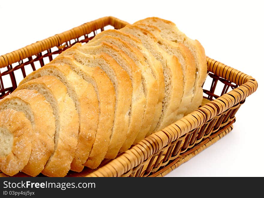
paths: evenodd
<path fill-rule="evenodd" d="M 124 152 L 131 147 L 142 126 L 146 97 L 143 91 L 142 75 L 140 68 L 135 62 L 121 49 L 113 44 L 103 42 L 97 46 L 83 45 L 80 51 L 88 54 L 98 54 L 101 51 L 112 56 L 115 61 L 128 73 L 132 82 L 132 102 L 128 133 L 120 152 Z"/>

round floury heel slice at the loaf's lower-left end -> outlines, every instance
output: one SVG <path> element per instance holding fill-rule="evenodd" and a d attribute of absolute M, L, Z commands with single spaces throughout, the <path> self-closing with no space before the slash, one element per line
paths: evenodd
<path fill-rule="evenodd" d="M 0 112 L 0 170 L 13 176 L 29 161 L 33 130 L 23 112 L 6 109 Z"/>

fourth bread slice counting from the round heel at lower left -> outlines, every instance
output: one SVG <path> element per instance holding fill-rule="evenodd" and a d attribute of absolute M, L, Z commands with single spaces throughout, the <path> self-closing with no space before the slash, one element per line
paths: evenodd
<path fill-rule="evenodd" d="M 78 76 L 67 64 L 49 64 L 30 73 L 19 85 L 41 76 L 54 76 L 67 88 L 79 115 L 79 135 L 71 170 L 80 172 L 91 152 L 97 131 L 99 107 L 94 86 Z"/>

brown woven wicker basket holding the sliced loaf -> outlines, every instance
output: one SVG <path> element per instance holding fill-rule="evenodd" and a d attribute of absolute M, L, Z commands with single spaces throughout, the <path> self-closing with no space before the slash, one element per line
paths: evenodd
<path fill-rule="evenodd" d="M 37 64 L 44 66 L 76 42 L 88 42 L 106 26 L 120 29 L 126 24 L 111 16 L 104 17 L 0 56 L 0 99 L 16 88 L 16 78 L 21 72 L 26 77 L 26 67 L 36 70 Z M 245 98 L 256 91 L 257 82 L 251 76 L 208 57 L 207 65 L 206 81 L 211 81 L 211 87 L 204 88 L 203 106 L 198 110 L 146 137 L 116 159 L 103 161 L 98 169 L 85 168 L 81 173 L 70 171 L 67 176 L 164 176 L 229 133 L 235 122 L 235 113 Z M 7 80 L 11 80 L 12 86 L 5 85 Z M 221 88 L 218 95 L 216 88 Z M 0 176 L 6 175 L 0 173 Z"/>

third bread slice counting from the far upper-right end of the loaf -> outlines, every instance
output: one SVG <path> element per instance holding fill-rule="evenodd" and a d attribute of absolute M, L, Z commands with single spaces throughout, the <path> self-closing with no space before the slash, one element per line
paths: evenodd
<path fill-rule="evenodd" d="M 127 25 L 119 31 L 130 33 L 139 38 L 154 57 L 161 61 L 165 81 L 165 96 L 163 111 L 154 131 L 161 130 L 172 124 L 177 116 L 183 90 L 183 73 L 181 65 L 175 55 L 169 55 L 158 46 L 158 40 L 151 32 L 132 25 Z"/>

